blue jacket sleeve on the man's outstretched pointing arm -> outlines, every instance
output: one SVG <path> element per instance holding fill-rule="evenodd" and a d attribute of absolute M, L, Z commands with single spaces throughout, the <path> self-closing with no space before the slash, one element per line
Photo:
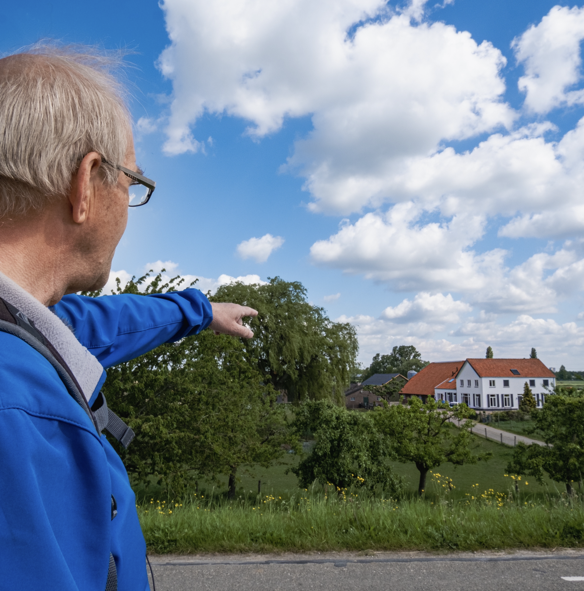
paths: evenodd
<path fill-rule="evenodd" d="M 105 368 L 196 335 L 213 320 L 209 300 L 195 289 L 149 296 L 71 294 L 52 310 Z"/>

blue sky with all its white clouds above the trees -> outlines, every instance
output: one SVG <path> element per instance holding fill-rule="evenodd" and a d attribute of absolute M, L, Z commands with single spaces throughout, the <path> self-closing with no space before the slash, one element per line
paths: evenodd
<path fill-rule="evenodd" d="M 582 369 L 581 8 L 23 2 L 0 8 L 0 51 L 136 51 L 136 152 L 157 189 L 130 210 L 121 277 L 162 261 L 204 289 L 302 281 L 358 327 L 364 362 L 404 343 L 430 361 L 535 346 Z"/>

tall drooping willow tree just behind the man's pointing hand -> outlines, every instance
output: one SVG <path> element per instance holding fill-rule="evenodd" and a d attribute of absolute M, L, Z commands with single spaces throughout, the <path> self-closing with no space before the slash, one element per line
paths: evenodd
<path fill-rule="evenodd" d="M 264 381 L 286 391 L 289 401 L 331 399 L 344 404 L 344 391 L 358 352 L 355 328 L 331 322 L 324 309 L 306 299 L 298 281 L 270 278 L 267 285 L 223 285 L 212 301 L 251 306 L 253 339 L 243 340 L 244 355 Z"/>

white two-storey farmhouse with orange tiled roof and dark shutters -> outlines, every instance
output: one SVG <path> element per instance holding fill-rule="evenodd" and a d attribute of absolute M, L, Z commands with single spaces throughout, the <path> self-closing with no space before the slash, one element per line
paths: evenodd
<path fill-rule="evenodd" d="M 456 374 L 452 398 L 476 410 L 516 409 L 526 382 L 541 407 L 556 385 L 556 376 L 539 359 L 466 359 Z M 436 400 L 448 400 L 442 398 L 445 386 L 435 388 Z"/>

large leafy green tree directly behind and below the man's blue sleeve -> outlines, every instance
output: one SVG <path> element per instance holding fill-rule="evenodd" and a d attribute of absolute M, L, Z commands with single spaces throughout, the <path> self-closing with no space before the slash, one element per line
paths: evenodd
<path fill-rule="evenodd" d="M 116 291 L 160 293 L 181 284 L 147 278 L 124 288 L 118 280 Z M 282 444 L 298 449 L 277 392 L 262 379 L 239 339 L 211 330 L 108 369 L 107 404 L 136 433 L 128 450 L 112 440 L 132 478 L 154 477 L 177 494 L 197 476 L 223 474 L 233 497 L 240 466 L 269 465 L 284 453 Z"/>

